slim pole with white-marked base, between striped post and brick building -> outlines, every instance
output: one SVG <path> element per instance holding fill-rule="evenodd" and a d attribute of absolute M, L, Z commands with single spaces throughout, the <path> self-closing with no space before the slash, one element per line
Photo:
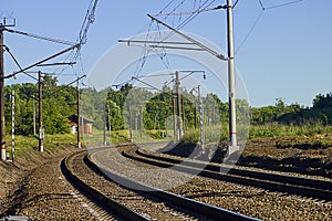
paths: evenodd
<path fill-rule="evenodd" d="M 43 139 L 44 139 L 44 128 L 43 128 L 43 78 L 42 72 L 38 72 L 38 84 L 39 84 L 39 151 L 44 151 Z"/>

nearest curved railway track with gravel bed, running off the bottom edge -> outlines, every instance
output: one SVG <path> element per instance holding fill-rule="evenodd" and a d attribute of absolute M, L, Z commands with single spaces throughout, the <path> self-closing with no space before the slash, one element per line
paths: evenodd
<path fill-rule="evenodd" d="M 115 219 L 257 220 L 143 185 L 110 170 L 102 171 L 85 152 L 69 156 L 62 161 L 61 167 L 76 188 L 102 204 Z M 113 180 L 126 185 L 120 187 Z"/>

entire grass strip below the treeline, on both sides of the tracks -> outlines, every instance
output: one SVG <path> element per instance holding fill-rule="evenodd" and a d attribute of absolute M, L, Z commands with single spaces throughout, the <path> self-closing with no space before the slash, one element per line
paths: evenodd
<path fill-rule="evenodd" d="M 246 137 L 248 134 L 247 127 L 238 126 L 239 137 Z M 173 130 L 147 130 L 142 133 L 133 131 L 134 143 L 156 141 L 156 140 L 169 140 L 173 138 Z M 247 138 L 247 137 L 246 137 Z M 332 126 L 315 125 L 280 125 L 280 124 L 267 124 L 259 126 L 250 126 L 249 140 L 264 140 L 264 139 L 278 139 L 279 148 L 288 147 L 305 147 L 305 148 L 329 148 L 332 146 Z M 7 143 L 10 144 L 11 137 L 7 136 Z M 206 126 L 205 127 L 205 141 L 206 144 L 216 144 L 218 141 L 228 140 L 228 125 L 219 126 Z M 62 148 L 65 145 L 76 144 L 76 135 L 63 134 L 63 135 L 46 135 L 44 147 L 48 151 L 56 151 L 56 148 Z M 84 146 L 103 146 L 104 133 L 101 130 L 94 130 L 93 135 L 84 135 L 82 138 L 82 145 Z M 115 130 L 112 131 L 111 137 L 108 131 L 106 133 L 107 144 L 123 144 L 129 143 L 128 130 Z M 197 144 L 199 143 L 199 129 L 187 130 L 183 136 L 181 143 Z M 25 157 L 25 152 L 31 149 L 38 149 L 38 139 L 34 136 L 15 136 L 15 156 Z M 7 147 L 8 152 L 11 152 L 11 147 Z"/>

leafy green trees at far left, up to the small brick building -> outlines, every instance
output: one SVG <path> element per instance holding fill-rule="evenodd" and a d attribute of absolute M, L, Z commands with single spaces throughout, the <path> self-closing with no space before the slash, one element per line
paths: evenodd
<path fill-rule="evenodd" d="M 43 126 L 45 134 L 64 134 L 70 131 L 68 117 L 76 112 L 76 88 L 56 86 L 58 78 L 50 75 L 43 77 Z M 15 134 L 33 135 L 33 110 L 35 112 L 37 130 L 39 128 L 38 84 L 24 83 L 6 86 L 6 93 L 14 91 Z M 10 96 L 9 96 L 10 97 Z M 6 130 L 11 131 L 11 98 L 6 102 Z"/>

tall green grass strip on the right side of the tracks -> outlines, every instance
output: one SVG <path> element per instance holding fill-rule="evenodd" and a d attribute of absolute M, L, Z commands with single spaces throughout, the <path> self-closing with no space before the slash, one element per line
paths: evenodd
<path fill-rule="evenodd" d="M 308 147 L 330 147 L 332 146 L 332 126 L 321 124 L 305 124 L 301 126 L 266 124 L 253 126 L 237 127 L 238 140 L 261 140 L 261 139 L 278 139 L 288 140 L 280 141 L 281 146 L 295 146 L 297 144 Z M 228 125 L 206 126 L 205 141 L 206 144 L 216 144 L 218 141 L 228 140 Z M 289 141 L 291 140 L 291 141 Z M 183 136 L 183 144 L 197 144 L 199 141 L 199 130 L 188 130 Z"/>

